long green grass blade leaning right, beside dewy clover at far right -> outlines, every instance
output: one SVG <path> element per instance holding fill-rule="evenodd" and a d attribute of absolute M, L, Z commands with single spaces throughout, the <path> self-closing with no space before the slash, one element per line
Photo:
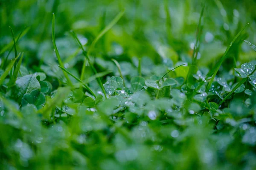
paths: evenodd
<path fill-rule="evenodd" d="M 233 43 L 236 41 L 236 39 L 239 37 L 239 35 L 241 34 L 242 31 L 244 31 L 244 29 L 249 25 L 249 23 L 247 23 L 244 28 L 241 29 L 241 31 L 239 31 L 238 34 L 236 34 L 236 37 L 233 39 L 233 41 L 230 43 L 230 45 L 227 47 L 225 53 L 223 54 L 223 56 L 221 57 L 221 59 L 218 61 L 218 63 L 215 65 L 215 67 L 213 68 L 213 70 L 211 72 L 209 72 L 209 74 L 207 74 L 207 78 L 211 77 L 210 82 L 207 85 L 207 91 L 209 90 L 210 86 L 212 85 L 212 82 L 218 72 L 218 69 L 220 68 L 222 62 L 224 61 L 224 59 L 227 57 L 227 54 L 230 51 L 230 48 L 232 47 Z"/>

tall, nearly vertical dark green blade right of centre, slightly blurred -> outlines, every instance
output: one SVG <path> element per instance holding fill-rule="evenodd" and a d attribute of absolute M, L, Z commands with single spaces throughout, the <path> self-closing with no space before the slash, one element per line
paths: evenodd
<path fill-rule="evenodd" d="M 196 42 L 194 45 L 194 51 L 193 51 L 193 55 L 192 55 L 192 65 L 196 65 L 196 59 L 197 59 L 198 51 L 200 48 L 200 36 L 201 36 L 201 32 L 202 32 L 201 22 L 202 22 L 202 17 L 204 14 L 204 7 L 205 6 L 203 6 L 203 8 L 201 10 L 201 14 L 200 14 L 199 22 L 198 22 Z"/>

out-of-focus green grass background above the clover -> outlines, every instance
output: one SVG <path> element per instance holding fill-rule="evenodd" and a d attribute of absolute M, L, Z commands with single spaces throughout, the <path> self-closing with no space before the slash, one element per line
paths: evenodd
<path fill-rule="evenodd" d="M 55 34 L 61 57 L 70 68 L 77 65 L 77 45 L 69 31 L 74 30 L 87 45 L 120 11 L 124 16 L 96 44 L 94 56 L 105 59 L 132 60 L 151 57 L 154 62 L 171 57 L 189 60 L 195 43 L 202 0 L 1 0 L 0 48 L 12 42 L 9 26 L 15 36 L 29 27 L 18 42 L 26 64 L 56 62 L 51 42 L 52 13 L 55 13 Z M 200 65 L 212 65 L 224 53 L 233 37 L 246 24 L 243 38 L 256 42 L 255 0 L 207 0 L 201 35 Z M 247 38 L 248 37 L 248 38 Z M 236 59 L 254 59 L 253 51 L 239 45 Z M 0 54 L 1 58 L 8 51 Z M 12 55 L 13 56 L 13 55 Z M 233 57 L 233 56 L 232 56 Z M 65 60 L 66 59 L 66 60 Z M 227 59 L 229 60 L 229 59 Z M 40 62 L 39 62 L 40 61 Z M 239 65 L 239 64 L 238 64 Z M 230 65 L 232 67 L 233 65 Z"/>

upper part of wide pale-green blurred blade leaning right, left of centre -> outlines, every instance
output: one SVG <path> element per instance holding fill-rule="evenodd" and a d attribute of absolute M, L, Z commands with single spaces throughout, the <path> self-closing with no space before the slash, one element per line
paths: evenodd
<path fill-rule="evenodd" d="M 116 15 L 116 17 L 99 33 L 99 35 L 93 40 L 92 44 L 90 45 L 90 48 L 88 50 L 88 53 L 90 54 L 91 50 L 94 48 L 95 44 L 98 42 L 98 40 L 106 34 L 116 23 L 120 20 L 120 18 L 123 16 L 125 11 L 120 12 Z"/>

